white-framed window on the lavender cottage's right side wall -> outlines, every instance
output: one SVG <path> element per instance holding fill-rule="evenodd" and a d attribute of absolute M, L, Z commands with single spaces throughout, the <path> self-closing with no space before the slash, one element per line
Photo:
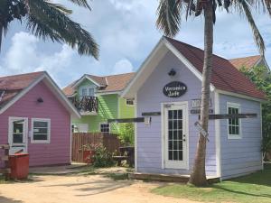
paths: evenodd
<path fill-rule="evenodd" d="M 240 114 L 240 105 L 236 103 L 227 103 L 227 112 L 229 115 Z M 228 119 L 228 138 L 229 139 L 241 138 L 241 120 L 239 118 Z"/>

